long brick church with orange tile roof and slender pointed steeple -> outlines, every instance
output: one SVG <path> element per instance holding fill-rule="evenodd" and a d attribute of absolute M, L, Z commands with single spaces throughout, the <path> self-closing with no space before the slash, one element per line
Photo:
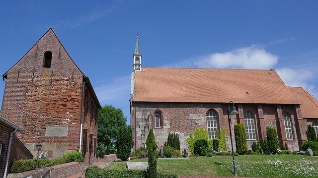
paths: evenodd
<path fill-rule="evenodd" d="M 243 123 L 248 149 L 266 139 L 269 126 L 277 129 L 280 145 L 292 151 L 307 140 L 307 124 L 318 133 L 317 100 L 301 87 L 287 87 L 275 69 L 143 67 L 138 38 L 130 96 L 133 150 L 144 146 L 150 128 L 159 148 L 169 133 L 178 133 L 181 150 L 188 149 L 190 131 L 204 127 L 209 138 L 225 128 L 230 151 L 231 101 L 239 112 L 232 116 L 233 140 L 234 124 Z"/>

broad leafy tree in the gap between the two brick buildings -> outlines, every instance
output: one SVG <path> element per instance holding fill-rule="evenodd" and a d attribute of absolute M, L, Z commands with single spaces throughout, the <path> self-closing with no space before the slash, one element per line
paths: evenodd
<path fill-rule="evenodd" d="M 125 127 L 127 118 L 121 108 L 105 105 L 98 111 L 98 143 L 114 148 L 120 128 Z"/>

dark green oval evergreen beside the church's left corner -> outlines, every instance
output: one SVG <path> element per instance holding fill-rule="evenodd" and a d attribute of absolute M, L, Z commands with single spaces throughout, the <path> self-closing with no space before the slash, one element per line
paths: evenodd
<path fill-rule="evenodd" d="M 133 135 L 130 126 L 120 128 L 117 135 L 117 157 L 122 161 L 129 158 L 133 142 Z"/>

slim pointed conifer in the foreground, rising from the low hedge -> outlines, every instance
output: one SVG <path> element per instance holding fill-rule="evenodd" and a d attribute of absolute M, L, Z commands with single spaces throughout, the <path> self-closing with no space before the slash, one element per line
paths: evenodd
<path fill-rule="evenodd" d="M 157 144 L 152 128 L 149 130 L 146 145 L 148 149 L 148 178 L 157 178 Z"/>

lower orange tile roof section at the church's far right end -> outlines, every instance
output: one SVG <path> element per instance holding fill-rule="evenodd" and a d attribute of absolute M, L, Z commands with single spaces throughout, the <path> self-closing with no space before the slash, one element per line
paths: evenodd
<path fill-rule="evenodd" d="M 318 118 L 318 101 L 302 87 L 288 87 L 296 100 L 301 103 L 303 118 Z"/>

